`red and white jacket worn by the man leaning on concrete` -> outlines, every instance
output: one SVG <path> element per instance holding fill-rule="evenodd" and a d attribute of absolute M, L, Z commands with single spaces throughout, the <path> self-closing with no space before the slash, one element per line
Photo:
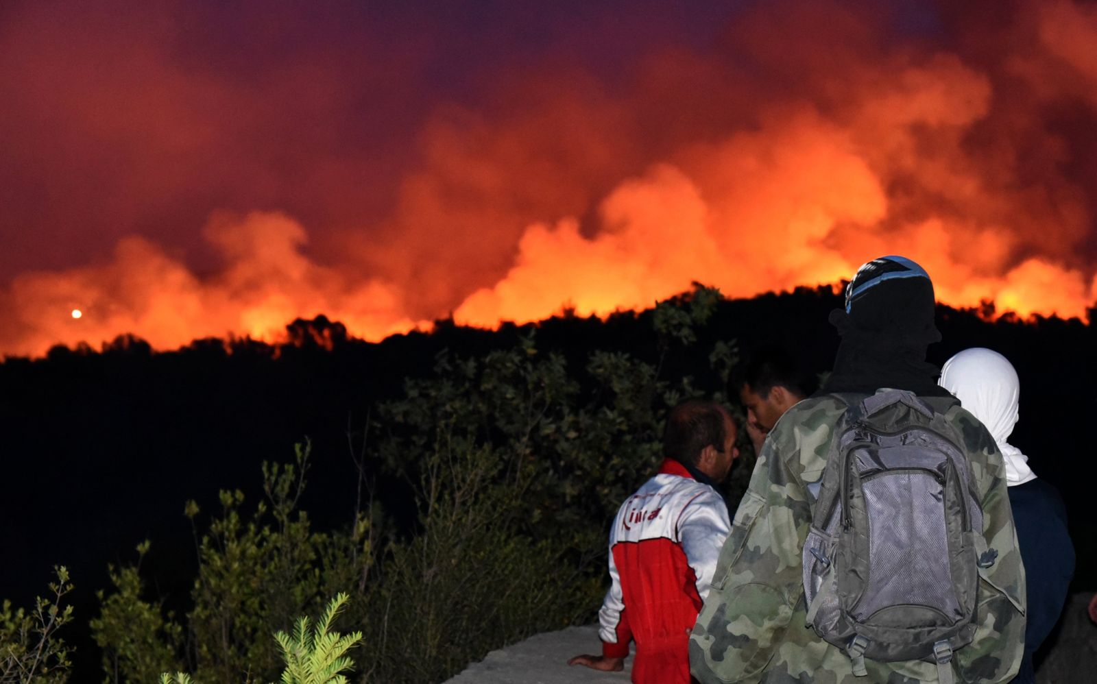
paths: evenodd
<path fill-rule="evenodd" d="M 633 682 L 689 682 L 689 630 L 730 528 L 723 497 L 669 458 L 621 504 L 599 636 L 609 657 L 636 641 Z"/>

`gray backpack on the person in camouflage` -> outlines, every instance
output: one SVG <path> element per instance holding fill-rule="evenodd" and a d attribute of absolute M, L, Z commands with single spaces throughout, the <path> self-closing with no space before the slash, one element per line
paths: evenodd
<path fill-rule="evenodd" d="M 804 544 L 807 625 L 849 653 L 858 676 L 866 658 L 927 660 L 948 684 L 953 651 L 975 632 L 977 566 L 996 556 L 976 552 L 983 513 L 945 419 L 957 400 L 835 397 L 847 410 Z"/>

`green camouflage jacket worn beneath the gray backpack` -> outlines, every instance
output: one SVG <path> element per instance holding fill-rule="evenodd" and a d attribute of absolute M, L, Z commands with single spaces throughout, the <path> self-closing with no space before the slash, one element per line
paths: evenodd
<path fill-rule="evenodd" d="M 801 401 L 767 437 L 750 486 L 732 521 L 690 638 L 690 669 L 701 682 L 914 684 L 936 682 L 937 664 L 866 660 L 856 677 L 849 656 L 806 626 L 802 549 L 812 518 L 807 483 L 819 480 L 830 437 L 845 412 L 833 397 Z M 1025 570 L 1014 529 L 1006 471 L 993 437 L 959 406 L 946 414 L 970 456 L 983 509 L 983 534 L 998 550 L 980 571 L 975 639 L 952 660 L 957 682 L 1007 682 L 1025 639 Z"/>

